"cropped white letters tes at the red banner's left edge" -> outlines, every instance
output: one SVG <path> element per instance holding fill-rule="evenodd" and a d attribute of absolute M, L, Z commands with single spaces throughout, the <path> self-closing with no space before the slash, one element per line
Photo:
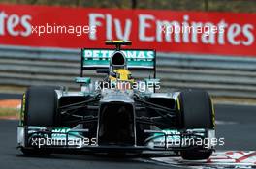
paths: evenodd
<path fill-rule="evenodd" d="M 30 15 L 6 14 L 0 11 L 0 36 L 11 35 L 13 37 L 28 37 L 31 35 Z M 17 29 L 21 26 L 22 30 Z"/>

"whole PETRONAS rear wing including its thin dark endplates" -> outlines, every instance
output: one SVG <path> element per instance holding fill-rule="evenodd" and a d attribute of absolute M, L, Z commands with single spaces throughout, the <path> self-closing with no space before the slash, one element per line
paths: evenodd
<path fill-rule="evenodd" d="M 112 53 L 116 49 L 83 48 L 81 49 L 81 71 L 109 69 Z M 128 70 L 152 70 L 156 76 L 156 52 L 144 49 L 121 49 L 119 50 L 127 59 Z"/>

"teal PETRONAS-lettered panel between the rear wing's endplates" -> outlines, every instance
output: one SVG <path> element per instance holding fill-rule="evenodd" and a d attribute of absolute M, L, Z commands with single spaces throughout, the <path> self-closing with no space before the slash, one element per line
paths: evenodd
<path fill-rule="evenodd" d="M 110 58 L 115 50 L 84 49 L 82 53 L 83 67 L 109 67 Z M 154 68 L 155 52 L 153 50 L 121 50 L 127 59 L 127 66 L 133 68 Z"/>

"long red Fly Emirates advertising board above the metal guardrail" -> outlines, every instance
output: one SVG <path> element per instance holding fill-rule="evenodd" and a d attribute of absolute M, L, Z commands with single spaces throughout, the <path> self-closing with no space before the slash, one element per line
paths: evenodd
<path fill-rule="evenodd" d="M 256 56 L 255 39 L 256 14 L 0 5 L 0 43 L 8 45 L 106 48 L 105 40 L 131 40 L 132 48 L 161 52 Z"/>

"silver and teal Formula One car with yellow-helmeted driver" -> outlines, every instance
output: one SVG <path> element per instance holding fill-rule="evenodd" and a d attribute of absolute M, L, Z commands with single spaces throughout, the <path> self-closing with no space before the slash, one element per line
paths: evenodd
<path fill-rule="evenodd" d="M 121 49 L 131 42 L 106 44 L 116 47 L 81 49 L 79 92 L 28 88 L 17 128 L 18 148 L 25 155 L 175 152 L 184 159 L 207 159 L 215 138 L 208 93 L 156 93 L 160 81 L 154 50 Z M 106 77 L 92 82 L 83 77 L 84 70 L 97 70 Z M 153 78 L 135 80 L 130 70 L 146 70 Z"/>

